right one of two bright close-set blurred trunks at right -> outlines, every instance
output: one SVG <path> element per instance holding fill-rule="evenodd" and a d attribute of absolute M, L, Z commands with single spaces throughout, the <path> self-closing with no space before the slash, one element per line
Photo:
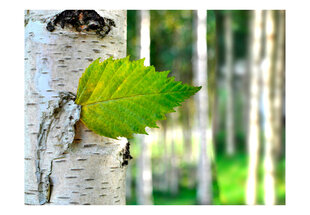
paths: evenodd
<path fill-rule="evenodd" d="M 265 11 L 265 51 L 262 70 L 263 126 L 264 126 L 264 200 L 275 204 L 275 154 L 273 133 L 272 77 L 274 75 L 275 22 L 273 11 Z"/>

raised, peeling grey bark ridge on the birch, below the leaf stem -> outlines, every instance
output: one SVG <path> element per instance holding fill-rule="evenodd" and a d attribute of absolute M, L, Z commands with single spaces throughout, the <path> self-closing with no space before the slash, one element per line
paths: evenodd
<path fill-rule="evenodd" d="M 41 115 L 37 136 L 36 177 L 39 203 L 49 202 L 53 161 L 64 158 L 75 136 L 75 123 L 80 119 L 81 106 L 74 103 L 75 95 L 59 92 Z M 49 153 L 46 153 L 46 152 Z"/>

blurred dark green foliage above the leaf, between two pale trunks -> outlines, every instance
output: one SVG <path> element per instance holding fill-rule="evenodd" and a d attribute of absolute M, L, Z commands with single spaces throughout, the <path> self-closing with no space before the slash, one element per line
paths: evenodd
<path fill-rule="evenodd" d="M 172 68 L 173 76 L 192 80 L 193 11 L 151 11 L 151 64 L 159 70 Z"/>

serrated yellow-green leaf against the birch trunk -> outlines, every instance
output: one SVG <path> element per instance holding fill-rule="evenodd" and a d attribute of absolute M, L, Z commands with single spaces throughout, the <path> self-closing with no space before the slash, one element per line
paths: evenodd
<path fill-rule="evenodd" d="M 174 107 L 201 88 L 167 78 L 169 71 L 156 72 L 143 63 L 144 59 L 126 57 L 97 59 L 89 65 L 75 101 L 82 106 L 81 120 L 89 129 L 114 139 L 147 134 L 146 126 L 158 128 L 157 120 L 166 119 L 166 113 L 175 112 Z"/>

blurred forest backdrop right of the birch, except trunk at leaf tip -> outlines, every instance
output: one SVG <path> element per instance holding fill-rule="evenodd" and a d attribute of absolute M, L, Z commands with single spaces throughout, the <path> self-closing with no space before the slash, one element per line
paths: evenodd
<path fill-rule="evenodd" d="M 197 12 L 151 10 L 147 11 L 147 16 L 143 15 L 144 12 L 127 12 L 127 54 L 131 59 L 145 57 L 141 56 L 142 46 L 145 46 L 143 41 L 150 40 L 150 65 L 157 71 L 171 70 L 171 76 L 175 76 L 177 81 L 197 83 Z M 210 121 L 205 129 L 212 133 L 207 137 L 208 154 L 212 160 L 210 203 L 264 204 L 268 202 L 266 195 L 273 195 L 269 197 L 273 199 L 272 204 L 285 204 L 285 11 L 210 10 L 205 13 L 205 72 L 209 94 L 208 107 L 205 108 L 209 109 L 206 120 Z M 257 25 L 255 19 L 259 13 L 261 20 Z M 149 23 L 147 27 L 143 27 L 145 23 Z M 269 25 L 274 28 L 270 41 Z M 142 28 L 149 28 L 149 35 L 145 35 Z M 256 31 L 261 31 L 257 44 L 253 36 Z M 272 50 L 268 52 L 270 43 Z M 253 63 L 253 47 L 256 45 L 260 47 L 258 59 L 255 59 L 259 62 Z M 269 70 L 264 65 L 268 58 L 271 61 Z M 253 82 L 253 67 L 259 68 L 256 82 Z M 266 74 L 271 74 L 267 84 Z M 250 118 L 253 111 L 251 102 L 256 95 L 253 83 L 257 85 L 259 94 L 254 98 L 257 99 L 257 107 L 254 108 L 258 117 L 254 125 Z M 280 101 L 274 113 L 270 113 L 272 119 L 269 121 L 272 126 L 278 126 L 277 130 L 272 130 L 272 170 L 266 167 L 266 156 L 267 159 L 269 156 L 266 124 L 271 112 L 263 95 L 266 87 L 270 90 L 270 102 Z M 160 129 L 152 129 L 144 139 L 132 140 L 134 159 L 127 175 L 128 204 L 199 203 L 197 173 L 201 134 L 198 131 L 198 111 L 195 98 L 191 98 L 177 108 L 177 113 L 169 114 L 167 121 L 160 123 Z M 259 132 L 254 142 L 249 134 L 253 126 Z M 257 149 L 253 154 L 251 145 L 254 144 L 257 144 Z M 143 179 L 143 171 L 151 171 L 152 174 Z M 249 185 L 253 171 L 255 188 Z M 272 172 L 274 180 L 271 188 L 265 186 L 268 171 Z M 274 191 L 268 192 L 271 189 Z"/>

